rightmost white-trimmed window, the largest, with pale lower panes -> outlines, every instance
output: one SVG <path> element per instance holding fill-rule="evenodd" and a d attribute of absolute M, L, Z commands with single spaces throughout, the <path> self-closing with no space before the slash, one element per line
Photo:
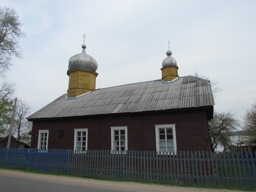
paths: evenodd
<path fill-rule="evenodd" d="M 157 151 L 176 152 L 175 124 L 155 125 L 155 132 Z"/>

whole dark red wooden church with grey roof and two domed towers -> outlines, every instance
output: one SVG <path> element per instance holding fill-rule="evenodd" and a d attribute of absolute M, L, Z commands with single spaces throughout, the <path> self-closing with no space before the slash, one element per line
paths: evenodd
<path fill-rule="evenodd" d="M 162 79 L 95 90 L 98 64 L 82 48 L 69 60 L 67 94 L 27 118 L 33 122 L 31 147 L 210 150 L 214 100 L 208 80 L 179 77 L 167 51 Z"/>

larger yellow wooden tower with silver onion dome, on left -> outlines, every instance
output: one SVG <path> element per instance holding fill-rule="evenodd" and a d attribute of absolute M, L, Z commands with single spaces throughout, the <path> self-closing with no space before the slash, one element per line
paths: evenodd
<path fill-rule="evenodd" d="M 86 45 L 82 45 L 83 51 L 72 56 L 68 63 L 67 75 L 69 85 L 67 97 L 72 98 L 95 90 L 98 63 L 90 55 L 86 54 Z"/>

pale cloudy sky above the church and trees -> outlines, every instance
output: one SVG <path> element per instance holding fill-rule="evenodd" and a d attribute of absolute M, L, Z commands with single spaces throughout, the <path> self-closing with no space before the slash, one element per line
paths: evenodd
<path fill-rule="evenodd" d="M 20 16 L 23 58 L 6 73 L 15 97 L 34 111 L 68 88 L 68 61 L 82 52 L 98 63 L 96 88 L 161 79 L 168 41 L 178 75 L 198 71 L 223 90 L 214 110 L 242 121 L 256 95 L 256 1 L 0 0 Z"/>

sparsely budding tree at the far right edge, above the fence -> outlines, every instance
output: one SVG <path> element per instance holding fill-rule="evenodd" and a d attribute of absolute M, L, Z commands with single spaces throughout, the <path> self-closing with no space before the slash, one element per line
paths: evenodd
<path fill-rule="evenodd" d="M 246 138 L 256 140 L 256 103 L 251 104 L 251 108 L 247 109 L 243 117 L 243 130 L 246 132 Z"/>

